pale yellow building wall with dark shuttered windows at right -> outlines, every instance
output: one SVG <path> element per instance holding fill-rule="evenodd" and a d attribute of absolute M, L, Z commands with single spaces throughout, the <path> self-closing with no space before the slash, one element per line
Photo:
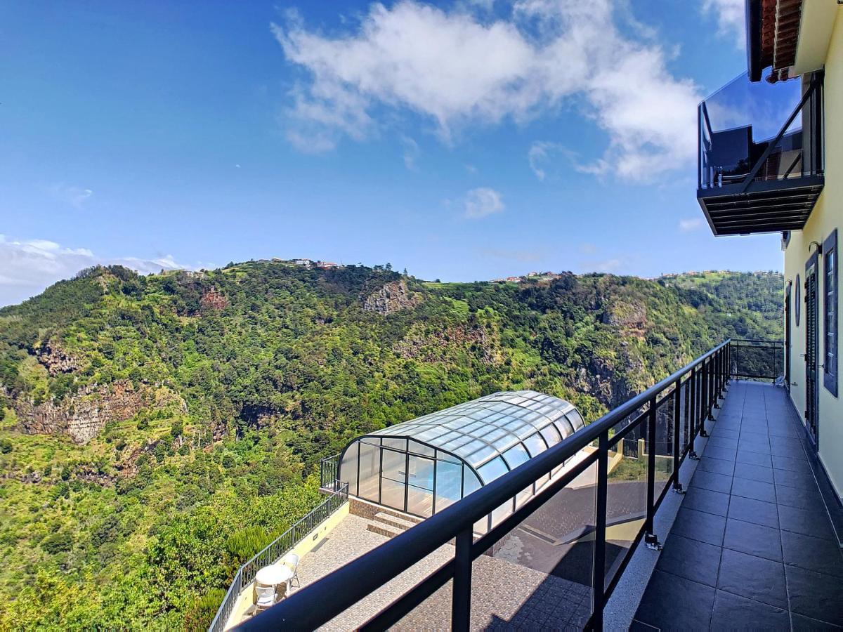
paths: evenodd
<path fill-rule="evenodd" d="M 791 281 L 792 287 L 792 348 L 791 348 L 791 398 L 799 416 L 804 421 L 805 411 L 805 362 L 801 354 L 805 352 L 805 305 L 800 306 L 801 317 L 796 324 L 796 276 L 800 284 L 805 278 L 805 262 L 811 254 L 808 245 L 813 241 L 820 244 L 837 228 L 840 242 L 843 242 L 843 11 L 837 11 L 834 31 L 825 63 L 824 85 L 824 126 L 825 126 L 825 186 L 814 206 L 811 217 L 802 231 L 791 235 L 790 244 L 785 250 L 785 282 Z M 843 245 L 843 244 L 841 244 Z M 838 246 L 840 247 L 840 246 Z M 813 252 L 813 251 L 812 251 Z M 819 294 L 819 355 L 823 362 L 823 260 L 818 263 Z M 843 283 L 841 283 L 843 286 Z M 800 300 L 804 299 L 804 289 L 799 289 Z M 838 296 L 840 303 L 840 296 Z M 840 312 L 838 305 L 838 313 Z M 843 318 L 840 318 L 843 322 Z M 839 344 L 839 351 L 843 345 Z M 840 363 L 843 368 L 843 362 Z M 819 459 L 829 474 L 832 485 L 838 495 L 843 496 L 843 388 L 840 398 L 823 386 L 822 369 L 819 369 Z"/>

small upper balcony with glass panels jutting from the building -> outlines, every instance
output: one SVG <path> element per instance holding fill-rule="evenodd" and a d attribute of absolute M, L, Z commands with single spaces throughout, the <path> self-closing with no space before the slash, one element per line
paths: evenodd
<path fill-rule="evenodd" d="M 799 230 L 823 190 L 823 78 L 752 83 L 701 102 L 696 197 L 715 235 Z"/>

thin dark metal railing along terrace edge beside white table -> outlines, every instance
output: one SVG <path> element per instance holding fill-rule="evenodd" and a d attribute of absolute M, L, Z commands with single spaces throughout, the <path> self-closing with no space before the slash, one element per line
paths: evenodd
<path fill-rule="evenodd" d="M 343 506 L 348 501 L 348 484 L 334 485 L 336 490 L 324 501 L 317 506 L 313 511 L 310 511 L 306 516 L 293 522 L 293 526 L 287 531 L 275 538 L 268 544 L 260 553 L 255 554 L 251 560 L 241 565 L 234 574 L 234 580 L 231 581 L 231 586 L 228 586 L 228 592 L 225 593 L 223 603 L 217 609 L 217 616 L 213 618 L 208 632 L 222 632 L 231 613 L 234 610 L 234 605 L 240 593 L 243 592 L 245 586 L 255 579 L 257 571 L 266 565 L 270 565 L 276 560 L 279 560 L 283 554 L 293 549 L 298 544 L 299 539 L 307 535 L 319 524 L 325 522 L 334 511 Z"/>

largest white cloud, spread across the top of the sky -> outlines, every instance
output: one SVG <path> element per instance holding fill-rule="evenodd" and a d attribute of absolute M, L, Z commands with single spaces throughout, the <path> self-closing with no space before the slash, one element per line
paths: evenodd
<path fill-rule="evenodd" d="M 653 179 L 694 158 L 700 94 L 668 72 L 673 51 L 621 33 L 615 21 L 628 21 L 626 13 L 610 0 L 519 0 L 507 19 L 490 21 L 470 5 L 448 11 L 405 0 L 373 4 L 344 35 L 298 18 L 272 24 L 287 60 L 306 71 L 287 136 L 324 151 L 409 111 L 453 142 L 468 126 L 523 123 L 576 99 L 609 137 L 604 156 L 583 169 Z"/>

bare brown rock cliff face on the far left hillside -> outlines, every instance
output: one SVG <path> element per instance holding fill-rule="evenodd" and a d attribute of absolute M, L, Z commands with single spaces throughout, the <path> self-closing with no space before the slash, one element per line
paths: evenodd
<path fill-rule="evenodd" d="M 135 388 L 128 380 L 87 387 L 57 403 L 32 404 L 13 399 L 19 430 L 27 434 L 67 435 L 74 442 L 86 443 L 99 434 L 110 421 L 130 419 L 141 410 L 178 402 L 180 398 L 166 389 L 153 390 L 146 385 Z"/>

